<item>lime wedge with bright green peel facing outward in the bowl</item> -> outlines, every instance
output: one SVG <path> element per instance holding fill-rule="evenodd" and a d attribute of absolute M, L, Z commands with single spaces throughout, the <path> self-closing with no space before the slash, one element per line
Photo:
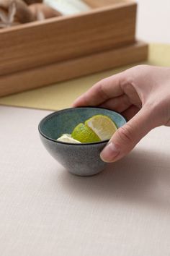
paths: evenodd
<path fill-rule="evenodd" d="M 79 140 L 81 143 L 91 143 L 101 141 L 98 135 L 86 124 L 78 124 L 71 134 L 74 140 Z"/>

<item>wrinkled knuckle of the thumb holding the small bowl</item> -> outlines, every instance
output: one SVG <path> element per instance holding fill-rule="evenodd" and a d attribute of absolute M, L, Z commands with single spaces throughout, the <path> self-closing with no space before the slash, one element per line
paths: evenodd
<path fill-rule="evenodd" d="M 123 145 L 131 144 L 133 142 L 133 129 L 129 124 L 117 129 L 117 134 Z"/>

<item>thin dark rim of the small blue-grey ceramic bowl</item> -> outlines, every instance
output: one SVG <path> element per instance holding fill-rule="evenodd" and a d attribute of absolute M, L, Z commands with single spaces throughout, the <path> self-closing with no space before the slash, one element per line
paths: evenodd
<path fill-rule="evenodd" d="M 87 143 L 70 143 L 70 142 L 63 142 L 63 141 L 58 141 L 58 140 L 54 140 L 50 137 L 48 137 L 47 135 L 45 135 L 41 129 L 40 129 L 40 126 L 42 124 L 43 121 L 45 121 L 45 119 L 49 118 L 50 116 L 54 116 L 55 114 L 57 113 L 60 113 L 60 112 L 63 112 L 63 111 L 67 111 L 67 110 L 71 110 L 71 109 L 76 109 L 76 108 L 96 108 L 96 109 L 104 109 L 104 110 L 108 110 L 108 111 L 112 111 L 112 112 L 115 112 L 116 114 L 119 114 L 122 119 L 124 119 L 125 123 L 127 122 L 127 119 L 125 119 L 125 116 L 122 116 L 122 114 L 120 114 L 119 112 L 117 111 L 114 111 L 112 109 L 109 109 L 109 108 L 100 108 L 100 107 L 95 107 L 95 106 L 79 106 L 79 107 L 71 107 L 71 108 L 63 108 L 61 110 L 58 110 L 58 111 L 54 111 L 53 113 L 51 114 L 48 114 L 47 116 L 43 117 L 40 121 L 40 123 L 38 124 L 38 132 L 40 132 L 40 135 L 42 135 L 42 137 L 45 137 L 45 139 L 47 140 L 50 140 L 50 141 L 53 141 L 57 144 L 63 144 L 63 145 L 74 145 L 76 147 L 79 147 L 79 146 L 84 146 L 84 145 L 99 145 L 99 144 L 105 144 L 106 142 L 109 142 L 109 140 L 102 140 L 102 141 L 99 141 L 99 142 L 87 142 Z"/>

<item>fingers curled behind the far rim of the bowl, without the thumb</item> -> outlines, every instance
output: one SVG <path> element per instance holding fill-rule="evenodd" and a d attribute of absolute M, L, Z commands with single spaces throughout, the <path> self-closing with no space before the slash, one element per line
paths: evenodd
<path fill-rule="evenodd" d="M 97 82 L 91 89 L 74 101 L 73 106 L 98 106 L 109 98 L 123 94 L 122 84 L 126 82 L 125 72 Z"/>

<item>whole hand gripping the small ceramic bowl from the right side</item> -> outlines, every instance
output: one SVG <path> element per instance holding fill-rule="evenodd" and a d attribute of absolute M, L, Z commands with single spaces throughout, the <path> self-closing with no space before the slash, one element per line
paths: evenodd
<path fill-rule="evenodd" d="M 170 68 L 139 65 L 97 82 L 73 103 L 120 112 L 128 119 L 101 153 L 105 162 L 127 155 L 151 129 L 170 126 Z"/>

